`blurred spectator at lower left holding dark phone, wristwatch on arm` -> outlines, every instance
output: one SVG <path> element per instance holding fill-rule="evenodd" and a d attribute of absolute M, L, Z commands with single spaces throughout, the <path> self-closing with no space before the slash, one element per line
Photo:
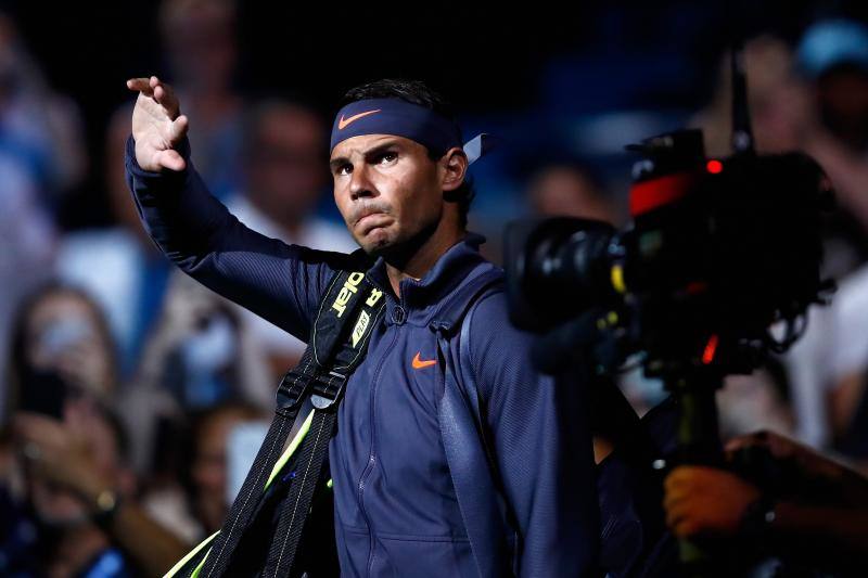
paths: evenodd
<path fill-rule="evenodd" d="M 2 468 L 16 514 L 0 531 L 10 564 L 56 576 L 165 571 L 186 544 L 135 502 L 126 436 L 107 409 L 113 347 L 97 306 L 68 287 L 37 292 L 20 311 L 11 357 L 13 450 L 23 461 Z"/>

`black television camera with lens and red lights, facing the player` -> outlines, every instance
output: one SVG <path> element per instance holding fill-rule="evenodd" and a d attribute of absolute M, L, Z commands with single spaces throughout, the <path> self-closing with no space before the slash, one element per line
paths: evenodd
<path fill-rule="evenodd" d="M 699 130 L 628 150 L 643 156 L 629 229 L 566 218 L 510 224 L 513 322 L 545 333 L 601 307 L 622 357 L 644 351 L 652 376 L 685 363 L 746 373 L 786 349 L 832 286 L 820 279 L 820 217 L 832 193 L 819 165 L 800 153 L 706 158 Z M 769 331 L 778 322 L 783 336 Z"/>

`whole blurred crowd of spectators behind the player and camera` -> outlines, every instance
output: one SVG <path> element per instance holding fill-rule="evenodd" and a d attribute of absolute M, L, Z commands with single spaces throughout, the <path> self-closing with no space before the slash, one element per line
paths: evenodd
<path fill-rule="evenodd" d="M 195 167 L 248 227 L 352 252 L 343 223 L 320 208 L 330 196 L 329 119 L 303 99 L 252 100 L 234 89 L 235 9 L 229 0 L 166 0 L 159 9 Z M 745 56 L 760 152 L 802 150 L 837 190 L 825 268 L 839 290 L 830 306 L 812 308 L 789 354 L 727 381 L 723 435 L 771 429 L 868 472 L 868 26 L 821 20 L 794 44 L 760 35 Z M 722 55 L 713 99 L 679 118 L 704 129 L 709 155 L 730 152 L 730 106 Z M 646 113 L 630 117 L 639 124 L 633 132 L 651 126 L 642 119 L 653 111 Z M 131 102 L 112 114 L 103 139 L 113 226 L 63 230 L 63 196 L 91 165 L 80 113 L 0 15 L 3 576 L 165 571 L 219 528 L 265 434 L 276 384 L 304 350 L 159 254 L 125 180 L 130 114 Z M 489 258 L 501 258 L 499 230 L 510 216 L 626 224 L 623 177 L 600 170 L 582 142 L 512 176 L 520 193 L 503 203 L 511 215 L 487 210 L 485 194 L 471 208 L 470 228 L 488 234 Z M 639 374 L 621 385 L 640 412 L 665 395 Z"/>

